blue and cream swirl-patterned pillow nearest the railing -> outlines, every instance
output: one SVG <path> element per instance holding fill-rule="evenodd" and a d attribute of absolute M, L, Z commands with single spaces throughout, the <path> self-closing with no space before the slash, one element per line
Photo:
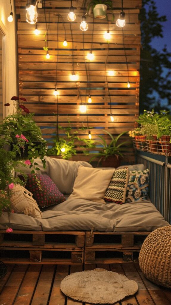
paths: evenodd
<path fill-rule="evenodd" d="M 129 182 L 126 191 L 126 202 L 135 202 L 148 198 L 149 170 L 129 172 Z"/>

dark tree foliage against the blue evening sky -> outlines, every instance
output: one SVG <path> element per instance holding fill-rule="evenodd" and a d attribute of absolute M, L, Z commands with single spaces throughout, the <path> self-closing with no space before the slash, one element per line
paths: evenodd
<path fill-rule="evenodd" d="M 152 39 L 163 37 L 163 23 L 166 16 L 159 16 L 153 0 L 142 0 L 141 20 L 141 62 L 140 62 L 140 113 L 144 109 L 159 110 L 161 99 L 171 105 L 171 53 L 167 46 L 157 50 L 151 46 Z"/>

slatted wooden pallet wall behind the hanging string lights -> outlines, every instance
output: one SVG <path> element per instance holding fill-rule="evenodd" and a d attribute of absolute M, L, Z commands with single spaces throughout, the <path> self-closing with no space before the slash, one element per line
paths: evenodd
<path fill-rule="evenodd" d="M 73 131 L 76 127 L 83 125 L 87 127 L 88 116 L 88 124 L 92 127 L 91 134 L 94 140 L 98 139 L 99 134 L 104 134 L 102 128 L 113 135 L 133 128 L 139 108 L 141 33 L 138 13 L 141 0 L 123 0 L 126 14 L 126 25 L 123 30 L 115 23 L 121 11 L 121 0 L 113 1 L 115 22 L 111 21 L 110 13 L 108 23 L 107 20 L 94 19 L 93 13 L 89 11 L 87 16 L 89 28 L 84 34 L 80 30 L 80 22 L 85 12 L 84 6 L 87 5 L 86 1 L 73 1 L 76 20 L 70 23 L 67 19 L 70 1 L 46 0 L 50 59 L 46 59 L 46 51 L 43 50 L 46 32 L 44 1 L 43 8 L 38 9 L 39 35 L 34 34 L 35 25 L 26 22 L 26 0 L 15 0 L 15 5 L 18 15 L 19 94 L 27 98 L 27 107 L 35 113 L 34 119 L 41 127 L 48 145 L 52 145 L 52 138 L 56 133 L 57 103 L 53 92 L 57 58 L 59 124 L 61 126 L 68 126 L 70 121 Z M 58 17 L 59 14 L 60 17 Z M 67 47 L 63 46 L 65 39 L 63 25 L 66 29 Z M 104 39 L 104 32 L 108 29 L 112 36 L 109 44 Z M 86 59 L 91 48 L 95 55 L 93 61 Z M 78 75 L 77 82 L 71 81 L 69 77 L 73 69 Z M 114 76 L 109 76 L 110 70 L 114 71 Z M 131 83 L 129 89 L 127 88 L 128 79 Z M 87 102 L 89 94 L 92 103 L 87 104 L 86 116 L 86 114 L 80 114 L 79 105 L 81 101 Z M 113 123 L 110 121 L 110 99 Z M 80 138 L 88 138 L 88 130 L 79 131 L 79 135 Z M 124 136 L 124 138 L 127 137 Z M 109 139 L 107 135 L 105 138 Z M 78 146 L 78 155 L 74 160 L 89 160 L 89 156 L 79 154 L 80 150 Z M 134 160 L 132 148 L 127 148 L 125 158 L 130 162 Z"/>

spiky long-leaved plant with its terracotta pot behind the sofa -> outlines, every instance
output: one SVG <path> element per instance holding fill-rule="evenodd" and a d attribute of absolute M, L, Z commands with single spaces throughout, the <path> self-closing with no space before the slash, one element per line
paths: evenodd
<path fill-rule="evenodd" d="M 100 142 L 100 141 L 96 141 L 96 142 L 99 143 L 100 145 L 102 145 L 103 148 L 99 153 L 95 154 L 91 158 L 90 162 L 98 157 L 99 158 L 98 165 L 101 162 L 102 167 L 118 167 L 121 162 L 121 157 L 123 157 L 123 154 L 122 154 L 122 151 L 124 150 L 123 146 L 128 144 L 129 142 L 124 141 L 124 142 L 121 142 L 120 144 L 117 144 L 117 143 L 118 143 L 119 138 L 122 135 L 126 134 L 126 132 L 122 132 L 116 138 L 114 138 L 113 135 L 109 131 L 104 130 L 104 129 L 102 129 L 102 131 L 106 132 L 110 136 L 111 141 L 109 144 L 107 144 L 107 141 L 105 140 L 105 138 L 102 135 L 98 135 L 98 137 L 102 140 L 102 142 Z"/>

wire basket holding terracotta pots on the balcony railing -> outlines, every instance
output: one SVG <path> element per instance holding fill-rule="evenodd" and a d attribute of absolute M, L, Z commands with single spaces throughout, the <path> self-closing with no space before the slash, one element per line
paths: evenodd
<path fill-rule="evenodd" d="M 133 139 L 134 148 L 141 151 L 151 152 L 156 155 L 171 156 L 170 136 L 162 136 L 157 139 L 147 140 L 145 136 L 135 136 Z"/>

